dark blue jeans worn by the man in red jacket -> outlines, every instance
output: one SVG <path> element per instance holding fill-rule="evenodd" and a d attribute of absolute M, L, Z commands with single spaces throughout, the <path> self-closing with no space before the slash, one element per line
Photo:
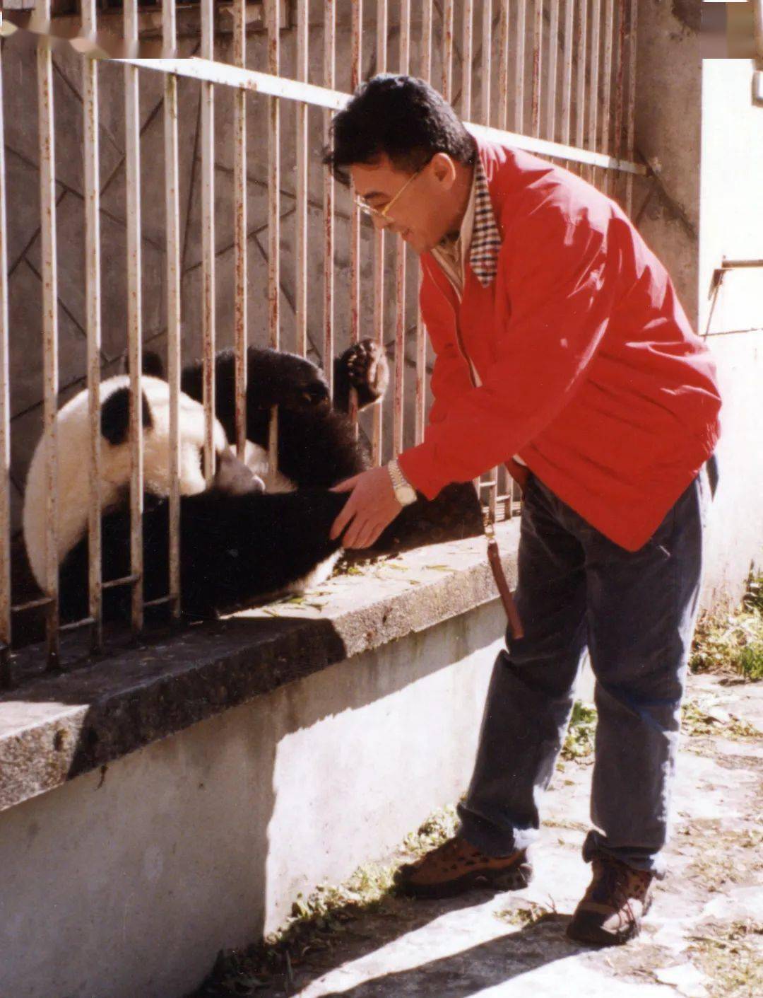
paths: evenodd
<path fill-rule="evenodd" d="M 517 605 L 493 670 L 461 834 L 490 855 L 535 842 L 587 647 L 598 711 L 583 857 L 664 872 L 670 785 L 702 568 L 714 459 L 638 551 L 625 551 L 530 476 Z"/>

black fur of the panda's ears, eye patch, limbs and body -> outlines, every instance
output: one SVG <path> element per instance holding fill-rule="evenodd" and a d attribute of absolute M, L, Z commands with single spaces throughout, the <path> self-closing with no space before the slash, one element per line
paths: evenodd
<path fill-rule="evenodd" d="M 231 442 L 235 432 L 233 364 L 229 351 L 216 356 L 215 414 Z M 147 356 L 145 366 L 147 373 L 162 373 L 154 355 Z M 386 387 L 388 369 L 383 353 L 369 340 L 346 351 L 335 362 L 334 375 L 338 404 L 332 405 L 325 378 L 314 364 L 293 354 L 249 348 L 246 437 L 267 446 L 270 409 L 277 405 L 278 470 L 294 483 L 296 491 L 231 495 L 212 487 L 181 497 L 184 614 L 213 616 L 286 591 L 338 551 L 338 542 L 329 540 L 328 535 L 347 497 L 328 489 L 369 464 L 342 407 L 347 405 L 350 386 L 355 387 L 361 407 L 376 400 Z M 200 363 L 183 371 L 181 384 L 186 394 L 201 400 Z M 144 420 L 150 424 L 146 399 Z M 127 389 L 115 392 L 104 403 L 101 426 L 111 444 L 127 441 Z M 168 591 L 169 501 L 147 492 L 144 505 L 144 599 L 151 602 Z M 433 524 L 450 537 L 479 531 L 479 506 L 471 485 L 444 490 L 440 509 L 437 507 L 437 501 L 407 507 L 386 532 L 385 546 L 395 546 L 401 536 L 420 542 Z M 102 519 L 102 547 L 104 581 L 129 575 L 127 489 L 124 500 Z M 61 564 L 63 620 L 87 615 L 87 566 L 86 536 Z M 129 586 L 106 588 L 103 596 L 107 620 L 129 618 Z"/>

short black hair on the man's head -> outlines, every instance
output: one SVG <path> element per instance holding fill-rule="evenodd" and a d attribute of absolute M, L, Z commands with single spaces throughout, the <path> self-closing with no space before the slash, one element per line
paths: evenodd
<path fill-rule="evenodd" d="M 424 80 L 380 73 L 361 84 L 331 123 L 333 148 L 323 163 L 342 184 L 347 168 L 386 154 L 396 169 L 416 173 L 435 153 L 472 164 L 475 142 L 456 112 Z"/>

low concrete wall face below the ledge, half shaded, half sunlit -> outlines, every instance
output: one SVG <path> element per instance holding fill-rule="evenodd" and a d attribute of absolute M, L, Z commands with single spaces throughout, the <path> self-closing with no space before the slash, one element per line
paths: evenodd
<path fill-rule="evenodd" d="M 0 814 L 0 995 L 176 998 L 464 791 L 497 602 Z"/>

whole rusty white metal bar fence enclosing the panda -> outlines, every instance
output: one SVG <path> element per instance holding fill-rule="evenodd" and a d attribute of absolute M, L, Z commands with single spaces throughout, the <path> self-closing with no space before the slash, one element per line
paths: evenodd
<path fill-rule="evenodd" d="M 140 102 L 145 74 L 160 73 L 164 80 L 164 183 L 166 204 L 166 259 L 164 274 L 167 297 L 168 379 L 171 390 L 171 572 L 170 588 L 163 600 L 172 613 L 180 613 L 180 486 L 179 486 L 179 392 L 181 374 L 181 209 L 179 119 L 179 79 L 191 78 L 201 88 L 200 160 L 201 160 L 201 324 L 203 342 L 203 402 L 206 409 L 205 467 L 211 473 L 213 461 L 212 419 L 214 408 L 213 358 L 215 351 L 215 211 L 214 151 L 215 95 L 220 88 L 232 89 L 234 95 L 233 149 L 233 234 L 234 234 L 234 309 L 233 341 L 235 347 L 236 445 L 242 452 L 245 442 L 244 393 L 245 349 L 250 341 L 247 321 L 247 200 L 246 166 L 250 137 L 246 134 L 246 102 L 267 102 L 267 297 L 268 339 L 271 346 L 281 345 L 279 288 L 281 284 L 281 116 L 295 114 L 295 227 L 294 312 L 297 352 L 306 355 L 308 346 L 308 112 L 320 109 L 324 136 L 333 112 L 344 106 L 348 94 L 337 90 L 337 70 L 348 89 L 361 79 L 364 56 L 375 72 L 393 70 L 411 72 L 430 80 L 452 101 L 462 118 L 472 124 L 475 135 L 530 150 L 563 162 L 572 170 L 619 198 L 630 208 L 633 176 L 643 168 L 633 163 L 633 109 L 635 99 L 635 21 L 636 0 L 410 0 L 395 5 L 397 19 L 391 21 L 387 0 L 264 0 L 264 4 L 233 0 L 214 4 L 200 0 L 199 45 L 190 58 L 178 58 L 178 11 L 175 0 L 161 3 L 162 58 L 139 58 L 142 28 L 146 11 L 138 0 L 123 0 L 122 11 L 114 8 L 104 13 L 98 0 L 80 0 L 81 30 L 76 39 L 80 51 L 87 51 L 88 39 L 100 39 L 99 28 L 105 17 L 119 16 L 122 43 L 130 54 L 124 65 L 125 122 L 125 197 L 127 219 L 127 344 L 132 387 L 130 439 L 132 446 L 131 522 L 132 564 L 130 574 L 109 582 L 109 586 L 132 587 L 132 623 L 136 632 L 143 627 L 143 455 L 141 406 L 142 367 L 142 218 L 141 218 L 141 145 Z M 188 12 L 189 5 L 183 10 Z M 148 9 L 148 5 L 147 5 Z M 157 24 L 159 6 L 152 8 L 152 24 Z M 232 19 L 232 58 L 215 60 L 215 32 L 221 14 Z M 337 13 L 348 18 L 349 72 L 347 60 L 337 60 Z M 8 18 L 6 13 L 6 19 Z M 27 17 L 24 21 L 23 18 Z M 251 68 L 247 60 L 247 30 L 263 18 L 266 30 L 266 63 Z M 310 21 L 310 18 L 313 21 Z M 27 335 L 28 330 L 9 330 L 5 165 L 3 160 L 2 53 L 0 52 L 0 449 L 4 460 L 0 485 L 0 684 L 9 685 L 9 650 L 12 615 L 32 605 L 46 611 L 47 659 L 51 668 L 60 665 L 60 636 L 64 628 L 58 618 L 58 564 L 56 543 L 57 485 L 55 417 L 59 402 L 57 239 L 56 239 L 56 108 L 54 107 L 53 53 L 49 36 L 57 33 L 52 17 L 51 0 L 36 0 L 29 15 L 17 13 L 14 24 L 38 34 L 38 130 L 41 205 L 41 268 L 44 288 L 42 303 L 42 350 L 44 356 L 44 418 L 47 444 L 47 572 L 46 593 L 34 603 L 14 605 L 11 594 L 11 541 L 9 514 L 10 408 L 8 342 L 10 335 Z M 293 28 L 284 33 L 284 26 Z M 370 26 L 370 27 L 369 27 Z M 310 71 L 311 28 L 322 36 L 322 78 Z M 344 37 L 344 36 L 343 36 Z M 396 40 L 395 40 L 396 37 Z M 280 75 L 281 45 L 293 46 L 293 79 Z M 84 115 L 84 212 L 86 252 L 87 315 L 87 386 L 90 392 L 91 446 L 88 456 L 90 497 L 90 609 L 89 616 L 67 625 L 68 629 L 88 626 L 92 647 L 103 645 L 100 516 L 100 433 L 98 391 L 101 378 L 102 291 L 101 238 L 99 205 L 99 58 L 90 54 L 81 59 L 82 111 Z M 103 56 L 103 52 L 100 54 Z M 343 53 L 346 54 L 346 53 Z M 312 76 L 312 79 L 310 77 Z M 511 130 L 511 131 L 510 131 Z M 394 342 L 394 388 L 391 400 L 391 433 L 383 439 L 384 412 L 373 410 L 368 430 L 373 460 L 380 462 L 398 453 L 404 445 L 405 401 L 413 397 L 413 439 L 420 439 L 425 423 L 427 398 L 427 346 L 421 318 L 411 306 L 407 286 L 418 279 L 406 247 L 398 241 L 394 247 L 395 293 L 387 300 L 385 273 L 388 240 L 382 230 L 373 236 L 373 258 L 362 276 L 361 222 L 354 205 L 345 211 L 349 216 L 349 301 L 338 300 L 336 290 L 337 202 L 346 195 L 335 189 L 325 172 L 323 180 L 323 288 L 322 288 L 322 357 L 326 375 L 332 373 L 334 326 L 338 309 L 348 309 L 349 339 L 357 342 L 366 302 L 370 307 L 372 335 L 382 344 Z M 351 204 L 347 202 L 346 204 Z M 368 286 L 366 287 L 365 284 Z M 363 302 L 363 304 L 361 303 Z M 391 311 L 390 311 L 391 309 Z M 385 330 L 392 329 L 390 336 Z M 413 361 L 406 362 L 406 343 L 413 341 Z M 412 373 L 412 379 L 410 374 Z M 408 379 L 406 374 L 409 375 Z M 409 412 L 411 410 L 409 409 Z M 357 417 L 352 412 L 354 419 Z M 277 412 L 271 418 L 271 454 L 277 433 Z M 410 435 L 410 434 L 409 434 Z M 511 503 L 506 480 L 487 476 L 488 500 L 495 509 L 501 502 Z"/>

